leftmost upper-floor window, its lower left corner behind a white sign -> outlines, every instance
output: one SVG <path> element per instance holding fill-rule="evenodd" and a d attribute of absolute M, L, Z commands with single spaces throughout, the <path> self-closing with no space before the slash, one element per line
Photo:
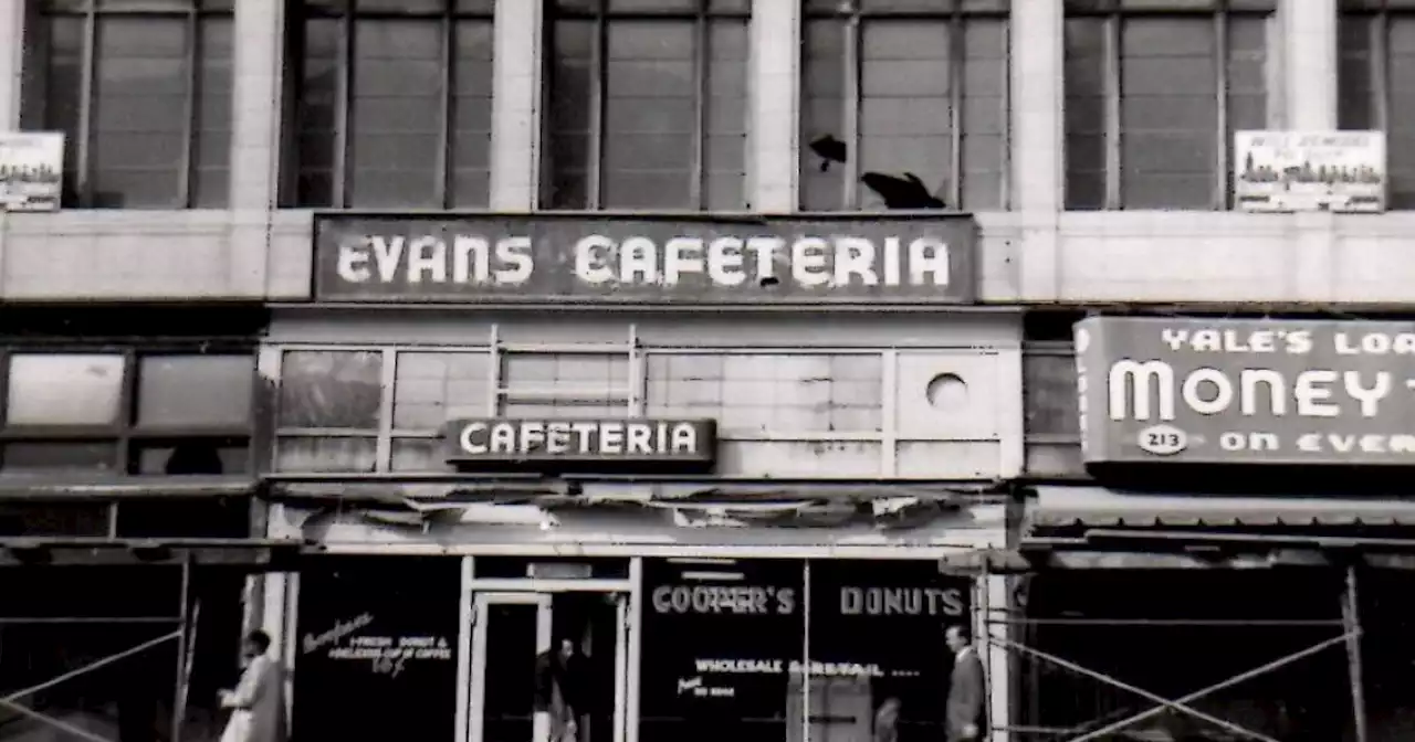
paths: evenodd
<path fill-rule="evenodd" d="M 232 6 L 40 1 L 20 117 L 65 134 L 64 205 L 228 204 Z"/>

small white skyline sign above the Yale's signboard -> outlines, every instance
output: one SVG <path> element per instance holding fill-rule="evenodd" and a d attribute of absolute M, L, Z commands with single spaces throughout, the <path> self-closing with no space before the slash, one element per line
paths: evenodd
<path fill-rule="evenodd" d="M 1252 212 L 1382 212 L 1385 133 L 1237 131 L 1234 204 Z"/>

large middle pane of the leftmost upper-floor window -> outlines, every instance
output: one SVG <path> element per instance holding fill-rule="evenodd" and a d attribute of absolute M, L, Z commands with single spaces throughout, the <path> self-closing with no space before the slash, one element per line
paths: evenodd
<path fill-rule="evenodd" d="M 96 206 L 183 205 L 190 42 L 185 18 L 100 17 L 89 153 Z M 168 116 L 142 120 L 126 114 L 133 107 Z"/>

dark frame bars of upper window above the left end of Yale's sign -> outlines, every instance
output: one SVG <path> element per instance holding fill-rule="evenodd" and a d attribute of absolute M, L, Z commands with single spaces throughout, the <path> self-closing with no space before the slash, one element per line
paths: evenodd
<path fill-rule="evenodd" d="M 1218 120 L 1214 123 L 1214 137 L 1217 137 L 1217 147 L 1214 148 L 1215 161 L 1210 164 L 1213 167 L 1213 182 L 1210 184 L 1208 209 L 1210 211 L 1231 211 L 1234 205 L 1234 188 L 1232 188 L 1232 137 L 1230 136 L 1230 112 L 1228 112 L 1228 96 L 1231 90 L 1230 85 L 1230 69 L 1231 54 L 1228 48 L 1228 20 L 1231 16 L 1241 17 L 1257 17 L 1268 18 L 1278 11 L 1275 0 L 1170 0 L 1167 4 L 1162 6 L 1159 3 L 1143 3 L 1139 7 L 1126 7 L 1128 0 L 1082 0 L 1073 3 L 1065 0 L 1064 18 L 1063 23 L 1073 18 L 1099 18 L 1102 21 L 1102 34 L 1105 37 L 1105 48 L 1102 51 L 1105 59 L 1105 198 L 1101 206 L 1097 208 L 1077 208 L 1074 206 L 1067 195 L 1070 194 L 1070 178 L 1068 174 L 1063 171 L 1063 192 L 1061 204 L 1065 211 L 1126 211 L 1125 206 L 1125 161 L 1124 153 L 1124 137 L 1125 129 L 1122 126 L 1124 117 L 1124 40 L 1122 27 L 1126 18 L 1203 18 L 1208 17 L 1213 21 L 1214 28 L 1214 69 L 1215 69 L 1215 92 L 1217 96 L 1217 112 Z M 1065 54 L 1065 41 L 1063 40 L 1063 54 Z M 1271 44 L 1265 45 L 1264 55 L 1268 58 L 1269 64 L 1272 59 Z M 1264 95 L 1268 100 L 1268 107 L 1271 112 L 1272 99 L 1275 90 L 1265 90 Z M 1063 103 L 1065 103 L 1065 92 L 1063 90 Z M 1063 120 L 1063 129 L 1065 122 Z M 1063 130 L 1063 148 L 1065 148 L 1067 131 Z M 1063 153 L 1064 157 L 1064 153 Z M 1139 209 L 1149 211 L 1149 209 Z"/>

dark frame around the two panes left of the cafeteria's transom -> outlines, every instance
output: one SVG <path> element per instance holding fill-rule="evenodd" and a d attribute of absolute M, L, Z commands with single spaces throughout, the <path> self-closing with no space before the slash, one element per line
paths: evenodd
<path fill-rule="evenodd" d="M 123 377 L 119 382 L 117 416 L 108 425 L 65 425 L 65 424 L 20 424 L 6 420 L 10 404 L 10 359 L 13 356 L 120 356 Z M 242 356 L 250 359 L 252 399 L 250 414 L 243 425 L 143 425 L 137 423 L 142 400 L 137 390 L 142 362 L 164 356 Z M 256 383 L 258 356 L 253 343 L 222 342 L 209 343 L 154 343 L 154 345 L 13 345 L 0 348 L 0 475 L 14 473 L 4 466 L 6 448 L 11 444 L 113 444 L 113 469 L 119 476 L 139 475 L 139 459 L 143 447 L 163 447 L 190 441 L 214 442 L 219 445 L 245 445 L 246 469 L 255 472 L 255 441 L 259 424 L 259 384 Z"/>

